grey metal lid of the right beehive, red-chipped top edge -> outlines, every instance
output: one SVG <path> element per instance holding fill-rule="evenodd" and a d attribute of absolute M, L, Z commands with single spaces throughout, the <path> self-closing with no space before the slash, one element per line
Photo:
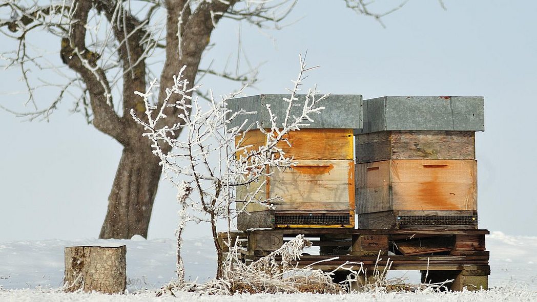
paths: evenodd
<path fill-rule="evenodd" d="M 364 128 L 355 133 L 389 130 L 484 131 L 484 99 L 381 97 L 364 100 Z"/>

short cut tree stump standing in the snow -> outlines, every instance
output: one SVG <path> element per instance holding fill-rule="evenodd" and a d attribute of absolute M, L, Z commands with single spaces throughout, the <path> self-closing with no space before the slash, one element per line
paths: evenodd
<path fill-rule="evenodd" d="M 124 293 L 127 288 L 127 247 L 65 248 L 64 290 Z"/>

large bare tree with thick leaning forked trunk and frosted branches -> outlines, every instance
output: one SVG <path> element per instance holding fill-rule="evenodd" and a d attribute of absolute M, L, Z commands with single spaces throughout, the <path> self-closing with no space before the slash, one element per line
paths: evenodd
<path fill-rule="evenodd" d="M 0 43 L 0 60 L 6 62 L 5 68 L 20 70 L 27 93 L 24 105 L 31 107 L 25 112 L 5 109 L 29 120 L 48 120 L 64 99 L 73 100 L 73 112 L 81 112 L 89 124 L 123 147 L 99 237 L 147 237 L 161 168 L 158 158 L 151 153 L 149 141 L 141 137 L 144 130 L 129 116 L 131 111 L 140 116 L 146 111 L 133 92 L 144 91 L 150 79 L 159 77 L 160 90 L 149 102 L 164 108 L 170 116 L 165 122 L 173 128 L 183 121 L 179 113 L 184 108 L 163 107 L 168 96 L 165 89 L 176 84 L 173 75 L 183 65 L 186 68 L 182 74 L 188 79 L 185 106 L 190 105 L 192 93 L 210 98 L 206 91 L 193 89 L 196 80 L 204 75 L 242 84 L 256 80 L 255 68 L 244 72 L 236 68 L 231 72 L 228 64 L 223 70 L 215 70 L 212 63 L 201 64 L 202 54 L 213 46 L 211 34 L 220 20 L 228 18 L 259 28 L 281 28 L 281 21 L 296 2 L 0 0 L 0 33 L 6 41 Z M 358 14 L 377 20 L 385 14 L 369 9 L 370 1 L 345 3 Z M 57 43 L 55 48 L 40 45 L 37 37 L 43 34 Z M 56 75 L 56 80 L 50 75 Z M 41 91 L 53 95 L 51 90 L 55 90 L 55 96 L 44 99 L 45 93 Z M 175 103 L 175 99 L 169 101 Z M 173 138 L 183 129 L 176 127 Z M 169 148 L 170 145 L 163 145 L 163 153 Z"/>

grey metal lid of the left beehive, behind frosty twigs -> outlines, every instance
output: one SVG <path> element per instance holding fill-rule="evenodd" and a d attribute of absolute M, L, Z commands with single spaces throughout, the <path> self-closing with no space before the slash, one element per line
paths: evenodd
<path fill-rule="evenodd" d="M 247 119 L 246 127 L 252 122 L 259 121 L 263 127 L 270 128 L 271 123 L 266 104 L 271 105 L 272 113 L 278 116 L 277 121 L 281 124 L 288 105 L 288 102 L 282 98 L 289 98 L 289 96 L 288 94 L 259 94 L 228 100 L 228 108 L 233 112 L 241 109 L 246 112 L 257 112 L 256 114 L 237 116 L 231 122 L 231 127 L 240 126 Z M 304 94 L 297 94 L 296 97 L 299 99 L 296 101 L 298 105 L 291 109 L 291 116 L 302 113 L 304 100 L 306 100 Z M 302 128 L 361 129 L 363 127 L 362 96 L 360 94 L 331 94 L 318 104 L 318 106 L 325 108 L 321 110 L 321 114 L 311 114 L 310 117 L 314 122 L 306 120 L 304 123 L 310 125 Z"/>

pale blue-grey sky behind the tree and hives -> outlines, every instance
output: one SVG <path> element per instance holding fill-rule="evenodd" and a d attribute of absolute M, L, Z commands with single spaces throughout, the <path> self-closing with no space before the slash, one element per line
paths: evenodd
<path fill-rule="evenodd" d="M 411 0 L 384 17 L 383 28 L 346 9 L 343 1 L 302 0 L 288 20 L 304 18 L 269 31 L 274 42 L 243 24 L 249 61 L 267 61 L 257 89 L 245 93 L 285 93 L 296 77 L 298 54 L 307 49 L 309 65 L 321 68 L 310 73 L 306 85 L 317 84 L 322 92 L 362 94 L 364 99 L 482 95 L 485 131 L 476 134 L 480 228 L 537 235 L 537 2 L 444 2 L 447 11 L 436 1 Z M 220 24 L 211 36 L 216 47 L 202 65 L 213 59 L 223 65 L 229 54 L 235 57 L 237 32 L 233 21 Z M 5 38 L 0 39 L 3 45 Z M 38 42 L 59 47 L 46 35 Z M 20 108 L 23 97 L 5 94 L 24 89 L 18 78 L 17 69 L 0 71 L 3 106 Z M 238 87 L 209 77 L 203 83 L 216 95 Z M 39 102 L 52 98 L 41 95 Z M 82 115 L 69 114 L 72 106 L 64 100 L 48 123 L 23 122 L 0 111 L 0 241 L 98 236 L 121 147 L 88 126 Z M 175 196 L 162 181 L 149 238 L 173 237 Z M 210 233 L 191 227 L 188 235 Z"/>

